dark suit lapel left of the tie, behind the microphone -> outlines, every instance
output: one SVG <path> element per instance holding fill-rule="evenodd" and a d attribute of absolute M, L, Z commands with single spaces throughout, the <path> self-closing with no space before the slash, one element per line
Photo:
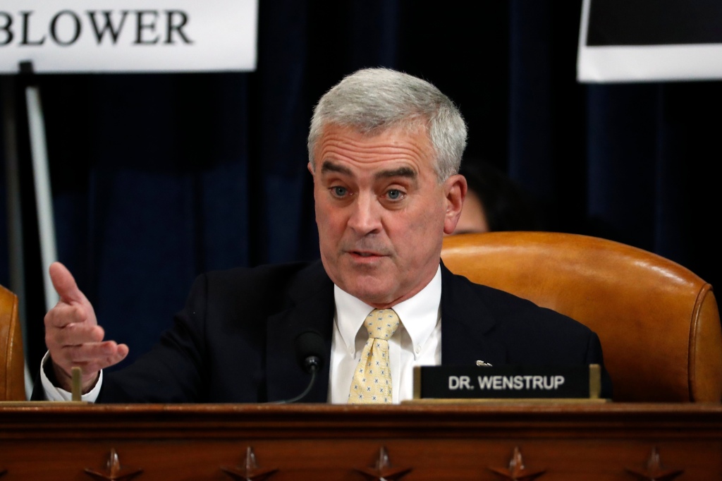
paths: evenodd
<path fill-rule="evenodd" d="M 295 352 L 299 334 L 315 330 L 323 338 L 326 357 L 316 373 L 313 389 L 302 402 L 326 402 L 334 323 L 334 285 L 321 262 L 301 272 L 289 288 L 289 307 L 266 322 L 266 374 L 269 401 L 291 399 L 305 391 L 310 374 L 301 368 Z"/>

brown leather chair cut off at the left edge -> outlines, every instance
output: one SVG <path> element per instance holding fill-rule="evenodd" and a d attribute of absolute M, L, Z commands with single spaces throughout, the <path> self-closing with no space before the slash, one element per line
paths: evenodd
<path fill-rule="evenodd" d="M 0 286 L 0 401 L 25 401 L 25 357 L 17 295 Z"/>

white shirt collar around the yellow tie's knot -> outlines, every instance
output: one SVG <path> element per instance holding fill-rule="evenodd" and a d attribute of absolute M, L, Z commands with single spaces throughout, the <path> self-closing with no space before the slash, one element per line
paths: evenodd
<path fill-rule="evenodd" d="M 335 284 L 334 301 L 336 303 L 336 326 L 344 339 L 344 344 L 352 347 L 355 345 L 356 334 L 361 329 L 368 313 L 373 311 L 373 307 Z M 409 333 L 412 345 L 422 346 L 425 344 L 440 318 L 440 304 L 441 266 L 436 270 L 432 280 L 417 295 L 392 306 L 404 329 Z"/>

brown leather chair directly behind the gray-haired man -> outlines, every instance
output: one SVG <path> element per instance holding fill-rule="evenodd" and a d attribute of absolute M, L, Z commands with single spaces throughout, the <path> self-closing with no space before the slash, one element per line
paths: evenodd
<path fill-rule="evenodd" d="M 542 232 L 451 235 L 441 258 L 599 334 L 615 401 L 722 400 L 717 301 L 689 269 L 625 244 Z"/>

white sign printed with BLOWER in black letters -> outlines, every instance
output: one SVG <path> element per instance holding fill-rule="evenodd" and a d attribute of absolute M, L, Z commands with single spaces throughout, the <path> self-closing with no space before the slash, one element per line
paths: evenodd
<path fill-rule="evenodd" d="M 2 0 L 0 73 L 251 71 L 258 0 Z"/>

